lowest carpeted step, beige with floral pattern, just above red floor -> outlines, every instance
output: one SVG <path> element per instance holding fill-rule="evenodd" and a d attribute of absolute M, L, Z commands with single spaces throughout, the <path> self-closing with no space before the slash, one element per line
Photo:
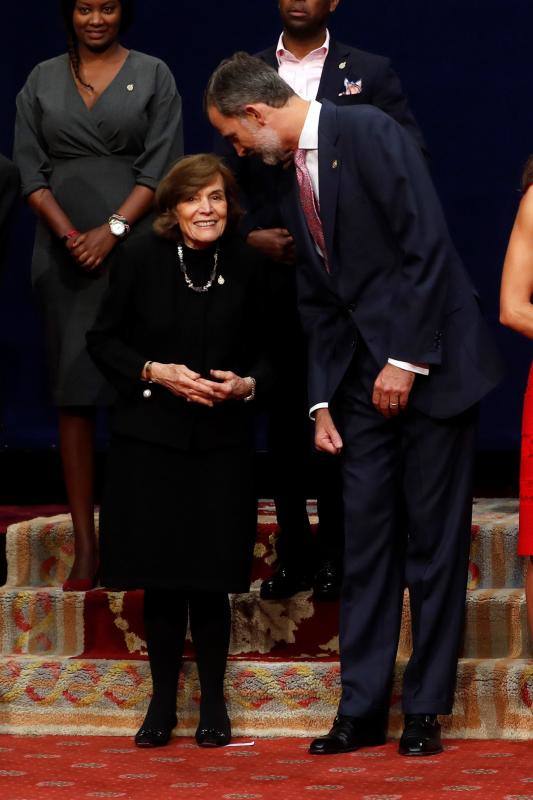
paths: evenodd
<path fill-rule="evenodd" d="M 401 729 L 398 664 L 390 733 Z M 41 659 L 0 661 L 0 733 L 123 735 L 143 719 L 150 695 L 145 661 Z M 180 685 L 179 733 L 194 732 L 198 683 L 187 663 Z M 236 735 L 310 736 L 325 732 L 339 699 L 337 663 L 238 661 L 226 694 Z M 447 736 L 527 739 L 533 729 L 533 664 L 520 659 L 463 660 Z"/>

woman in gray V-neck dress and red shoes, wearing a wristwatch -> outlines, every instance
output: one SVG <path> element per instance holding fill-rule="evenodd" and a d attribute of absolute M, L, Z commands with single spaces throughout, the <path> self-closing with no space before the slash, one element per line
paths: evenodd
<path fill-rule="evenodd" d="M 168 67 L 127 50 L 131 0 L 61 0 L 68 54 L 38 64 L 17 97 L 15 161 L 39 223 L 32 281 L 41 306 L 76 558 L 65 589 L 97 571 L 95 408 L 110 387 L 85 348 L 114 248 L 146 228 L 154 190 L 183 154 L 181 101 Z"/>

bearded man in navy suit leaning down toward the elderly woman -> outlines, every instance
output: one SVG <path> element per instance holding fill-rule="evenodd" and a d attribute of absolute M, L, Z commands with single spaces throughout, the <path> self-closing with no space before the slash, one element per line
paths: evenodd
<path fill-rule="evenodd" d="M 442 750 L 467 582 L 477 404 L 501 366 L 413 138 L 371 106 L 306 102 L 258 59 L 210 79 L 239 155 L 293 156 L 282 209 L 298 250 L 315 443 L 342 453 L 342 697 L 315 754 L 385 741 L 409 587 L 404 755 Z"/>

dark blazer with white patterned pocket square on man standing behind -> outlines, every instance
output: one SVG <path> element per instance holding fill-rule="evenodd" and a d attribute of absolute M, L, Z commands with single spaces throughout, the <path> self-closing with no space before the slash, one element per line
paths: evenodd
<path fill-rule="evenodd" d="M 278 69 L 275 46 L 256 55 L 275 70 Z M 345 91 L 345 79 L 361 81 L 361 93 L 342 95 Z M 330 100 L 343 107 L 370 103 L 381 108 L 410 133 L 427 156 L 424 138 L 388 58 L 330 39 L 316 99 L 319 102 Z M 220 137 L 216 141 L 215 149 L 224 156 L 239 182 L 242 203 L 247 211 L 241 223 L 243 236 L 246 237 L 255 228 L 279 227 L 282 220 L 277 187 L 283 168 L 267 166 L 258 156 L 239 158 L 233 148 Z"/>

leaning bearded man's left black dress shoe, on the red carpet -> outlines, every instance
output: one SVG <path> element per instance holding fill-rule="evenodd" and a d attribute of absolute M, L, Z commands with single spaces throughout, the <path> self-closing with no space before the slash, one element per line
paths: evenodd
<path fill-rule="evenodd" d="M 333 727 L 326 736 L 314 739 L 309 752 L 314 756 L 330 756 L 351 753 L 360 747 L 375 747 L 385 744 L 386 715 L 371 717 L 348 717 L 337 714 Z"/>

